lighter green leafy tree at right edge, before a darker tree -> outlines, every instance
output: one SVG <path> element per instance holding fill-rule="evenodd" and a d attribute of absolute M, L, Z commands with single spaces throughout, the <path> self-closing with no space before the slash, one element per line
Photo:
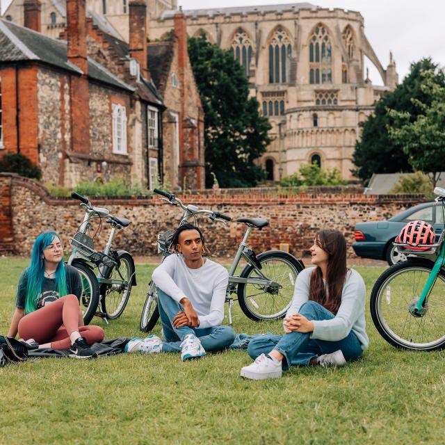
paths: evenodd
<path fill-rule="evenodd" d="M 443 74 L 443 73 L 442 73 Z M 423 102 L 413 97 L 412 104 L 422 113 L 412 115 L 409 111 L 389 109 L 388 114 L 395 125 L 389 127 L 389 137 L 403 148 L 408 162 L 415 170 L 426 173 L 435 187 L 444 170 L 445 159 L 445 86 L 437 81 L 435 70 L 421 74 L 421 90 L 432 101 Z"/>

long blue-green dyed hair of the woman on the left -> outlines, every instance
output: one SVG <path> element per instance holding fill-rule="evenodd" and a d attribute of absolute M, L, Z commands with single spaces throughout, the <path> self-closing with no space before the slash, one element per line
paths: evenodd
<path fill-rule="evenodd" d="M 27 270 L 25 314 L 30 314 L 37 309 L 44 279 L 43 251 L 54 241 L 54 238 L 60 239 L 60 236 L 54 231 L 43 232 L 35 238 L 31 251 L 31 264 Z M 63 259 L 60 260 L 56 268 L 55 277 L 59 296 L 67 295 L 67 276 Z"/>

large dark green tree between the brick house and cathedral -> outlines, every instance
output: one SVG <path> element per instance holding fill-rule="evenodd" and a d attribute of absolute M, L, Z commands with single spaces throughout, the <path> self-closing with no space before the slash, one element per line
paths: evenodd
<path fill-rule="evenodd" d="M 254 161 L 270 143 L 270 123 L 249 98 L 248 79 L 232 51 L 204 36 L 188 39 L 188 55 L 204 108 L 206 186 L 249 187 L 265 177 Z"/>

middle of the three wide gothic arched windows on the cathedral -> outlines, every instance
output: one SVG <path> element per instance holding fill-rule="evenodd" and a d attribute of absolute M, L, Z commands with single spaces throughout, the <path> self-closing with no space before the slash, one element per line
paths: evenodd
<path fill-rule="evenodd" d="M 291 39 L 286 31 L 279 26 L 269 42 L 269 83 L 289 81 L 291 57 Z"/>

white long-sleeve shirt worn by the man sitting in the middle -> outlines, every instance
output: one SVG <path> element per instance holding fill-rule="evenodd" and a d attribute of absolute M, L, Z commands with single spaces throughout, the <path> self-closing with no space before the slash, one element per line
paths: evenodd
<path fill-rule="evenodd" d="M 172 254 L 154 269 L 152 280 L 177 302 L 188 298 L 197 312 L 200 328 L 223 322 L 229 273 L 215 261 L 207 258 L 203 266 L 191 269 L 182 255 Z"/>

